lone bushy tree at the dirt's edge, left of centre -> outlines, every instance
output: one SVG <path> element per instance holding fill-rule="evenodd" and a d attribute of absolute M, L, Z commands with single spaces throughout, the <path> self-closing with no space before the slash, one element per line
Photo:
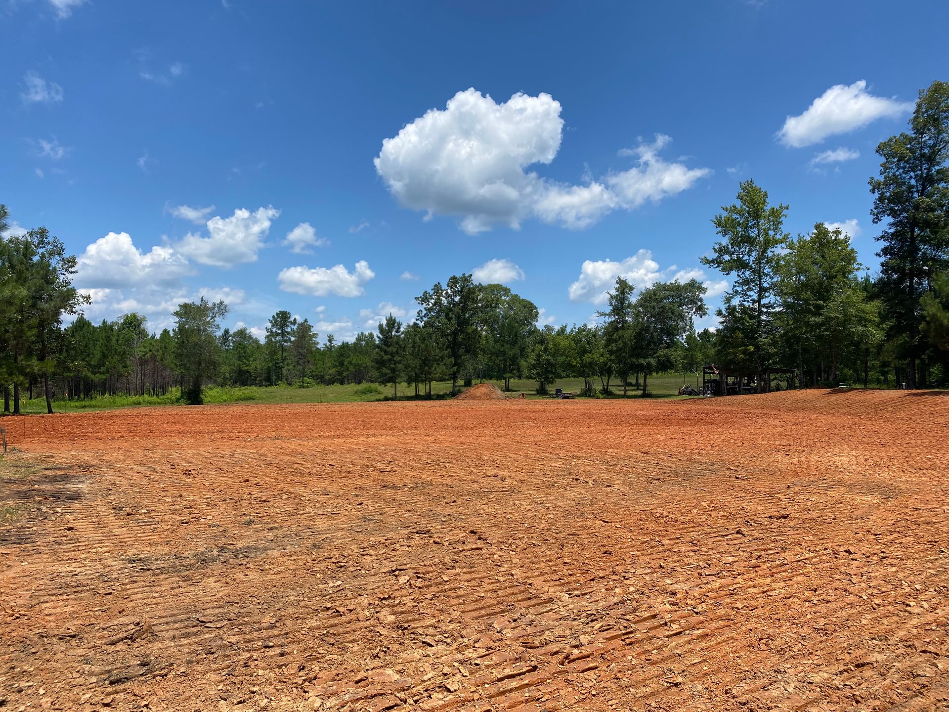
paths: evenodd
<path fill-rule="evenodd" d="M 203 296 L 198 302 L 179 304 L 175 316 L 175 358 L 186 384 L 182 396 L 186 403 L 204 403 L 202 389 L 214 376 L 220 346 L 218 322 L 228 312 L 223 301 L 209 302 Z"/>

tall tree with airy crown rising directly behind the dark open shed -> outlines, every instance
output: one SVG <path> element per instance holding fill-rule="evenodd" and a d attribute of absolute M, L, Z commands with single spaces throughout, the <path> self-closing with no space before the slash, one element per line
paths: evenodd
<path fill-rule="evenodd" d="M 723 328 L 729 328 L 730 319 L 740 320 L 740 324 L 731 325 L 730 331 L 733 336 L 741 334 L 748 340 L 760 393 L 763 363 L 772 346 L 773 316 L 778 306 L 775 284 L 779 251 L 789 237 L 784 232 L 788 206 L 769 205 L 767 191 L 755 185 L 754 180 L 745 180 L 739 186 L 738 201 L 723 206 L 722 211 L 712 223 L 723 239 L 713 248 L 713 256 L 702 257 L 701 262 L 723 274 L 734 275 L 718 317 Z"/>

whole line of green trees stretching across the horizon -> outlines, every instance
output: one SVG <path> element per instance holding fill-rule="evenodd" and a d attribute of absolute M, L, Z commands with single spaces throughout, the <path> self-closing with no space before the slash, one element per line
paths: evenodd
<path fill-rule="evenodd" d="M 538 309 L 507 287 L 450 277 L 425 290 L 413 320 L 389 314 L 351 342 L 323 345 L 307 319 L 277 311 L 258 338 L 221 328 L 223 302 L 183 303 L 174 328 L 150 332 L 140 314 L 93 324 L 88 297 L 70 281 L 76 258 L 45 228 L 9 234 L 0 206 L 0 386 L 4 411 L 24 392 L 55 398 L 166 394 L 200 403 L 221 385 L 391 384 L 431 397 L 432 384 L 529 378 L 538 392 L 577 378 L 587 395 L 630 386 L 647 393 L 653 374 L 715 363 L 754 376 L 796 368 L 798 384 L 949 384 L 949 84 L 920 92 L 909 131 L 880 143 L 870 178 L 872 217 L 882 225 L 880 272 L 859 263 L 846 234 L 817 223 L 784 230 L 789 206 L 754 180 L 712 220 L 718 241 L 703 264 L 731 278 L 719 327 L 696 280 L 637 289 L 619 277 L 597 324 L 537 326 Z M 69 323 L 64 326 L 64 320 Z M 892 379 L 892 380 L 891 380 Z"/>

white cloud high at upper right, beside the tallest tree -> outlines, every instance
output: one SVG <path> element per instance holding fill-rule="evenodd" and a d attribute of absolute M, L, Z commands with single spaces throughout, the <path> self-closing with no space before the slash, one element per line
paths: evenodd
<path fill-rule="evenodd" d="M 777 140 L 786 146 L 801 148 L 820 143 L 828 136 L 862 128 L 878 119 L 899 119 L 912 110 L 912 102 L 873 96 L 866 91 L 864 80 L 849 86 L 835 84 L 817 97 L 803 114 L 789 116 L 777 132 Z"/>

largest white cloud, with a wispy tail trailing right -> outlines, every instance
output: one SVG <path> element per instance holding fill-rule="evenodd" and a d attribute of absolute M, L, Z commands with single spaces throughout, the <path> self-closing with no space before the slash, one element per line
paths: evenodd
<path fill-rule="evenodd" d="M 432 109 L 382 141 L 376 171 L 400 203 L 434 215 L 456 215 L 467 234 L 498 225 L 514 229 L 529 217 L 570 229 L 592 225 L 610 211 L 633 210 L 690 188 L 708 176 L 667 162 L 658 135 L 621 152 L 637 165 L 585 185 L 541 178 L 530 166 L 557 155 L 564 122 L 549 94 L 514 94 L 504 103 L 473 88 L 459 91 L 444 109 Z"/>

